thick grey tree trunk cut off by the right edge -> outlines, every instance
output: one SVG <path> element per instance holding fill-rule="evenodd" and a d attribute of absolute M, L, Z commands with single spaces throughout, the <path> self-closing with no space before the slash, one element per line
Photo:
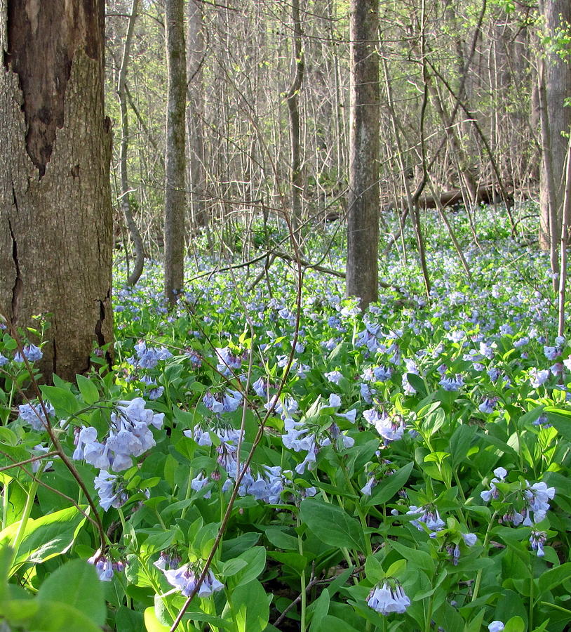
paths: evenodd
<path fill-rule="evenodd" d="M 571 22 L 571 3 L 568 0 L 544 0 L 540 8 L 549 37 L 555 37 L 559 29 L 565 29 L 565 25 Z M 549 52 L 540 60 L 540 70 L 543 73 L 540 72 L 539 77 L 539 111 L 542 119 L 539 244 L 544 250 L 551 250 L 553 259 L 553 256 L 556 257 L 553 251 L 559 246 L 565 192 L 567 139 L 562 132 L 569 132 L 571 108 L 564 107 L 563 103 L 571 95 L 571 66 L 558 54 Z"/>

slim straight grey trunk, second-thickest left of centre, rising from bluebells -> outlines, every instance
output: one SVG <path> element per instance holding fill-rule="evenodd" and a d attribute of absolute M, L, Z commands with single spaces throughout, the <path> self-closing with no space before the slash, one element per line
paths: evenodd
<path fill-rule="evenodd" d="M 165 2 L 168 101 L 165 154 L 165 296 L 173 305 L 184 284 L 184 114 L 187 56 L 184 50 L 184 0 Z"/>

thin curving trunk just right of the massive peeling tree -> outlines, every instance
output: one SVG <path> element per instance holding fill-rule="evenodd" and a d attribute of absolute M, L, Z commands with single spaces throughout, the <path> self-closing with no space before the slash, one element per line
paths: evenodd
<path fill-rule="evenodd" d="M 129 235 L 133 239 L 135 247 L 135 267 L 130 273 L 127 283 L 135 285 L 139 280 L 143 266 L 145 265 L 145 249 L 143 248 L 142 237 L 139 227 L 133 217 L 130 205 L 130 187 L 127 173 L 127 152 L 129 149 L 129 117 L 127 114 L 127 66 L 129 63 L 129 53 L 131 41 L 133 40 L 133 30 L 135 29 L 135 20 L 139 8 L 139 0 L 133 0 L 131 5 L 131 13 L 125 36 L 125 44 L 123 46 L 123 58 L 121 59 L 121 68 L 119 69 L 119 79 L 117 81 L 117 97 L 119 98 L 119 110 L 121 112 L 121 145 L 119 146 L 119 171 L 121 173 L 121 209 L 125 216 L 125 222 L 129 230 Z"/>

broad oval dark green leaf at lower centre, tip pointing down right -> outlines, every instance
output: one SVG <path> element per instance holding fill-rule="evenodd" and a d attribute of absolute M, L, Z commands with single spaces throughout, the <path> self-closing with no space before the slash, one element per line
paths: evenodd
<path fill-rule="evenodd" d="M 337 505 L 306 498 L 300 506 L 300 518 L 329 546 L 356 548 L 358 551 L 365 548 L 361 525 Z"/>

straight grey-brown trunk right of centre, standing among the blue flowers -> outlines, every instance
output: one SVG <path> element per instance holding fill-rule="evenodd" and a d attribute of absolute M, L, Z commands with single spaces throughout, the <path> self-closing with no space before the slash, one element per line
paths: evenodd
<path fill-rule="evenodd" d="M 378 0 L 351 0 L 347 295 L 377 301 L 379 243 Z"/>

